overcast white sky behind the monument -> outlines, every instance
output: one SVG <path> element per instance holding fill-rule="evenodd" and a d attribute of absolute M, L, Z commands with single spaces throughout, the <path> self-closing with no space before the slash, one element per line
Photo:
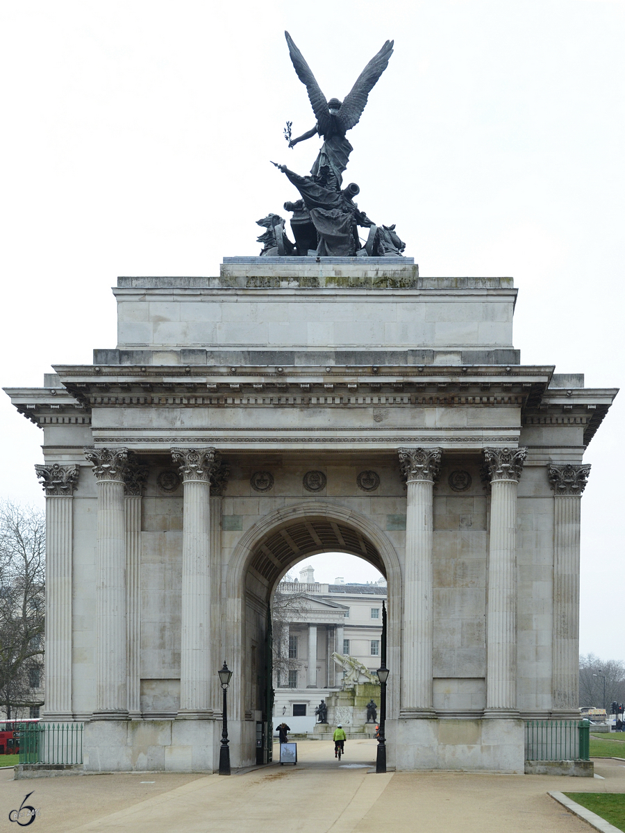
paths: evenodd
<path fill-rule="evenodd" d="M 283 139 L 314 123 L 285 28 L 327 97 L 395 39 L 350 135 L 360 207 L 422 275 L 514 277 L 523 363 L 618 387 L 620 0 L 2 0 L 0 384 L 114 347 L 117 275 L 258 254 L 255 221 L 297 196 L 269 160 L 304 173 L 318 149 Z M 621 660 L 623 398 L 586 456 L 581 616 L 582 652 Z M 0 496 L 42 505 L 42 435 L 3 395 L 0 429 Z"/>

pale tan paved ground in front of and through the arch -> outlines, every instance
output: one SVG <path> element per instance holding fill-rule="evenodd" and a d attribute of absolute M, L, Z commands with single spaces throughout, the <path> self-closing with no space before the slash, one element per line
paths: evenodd
<path fill-rule="evenodd" d="M 229 778 L 66 776 L 13 781 L 0 772 L 0 831 L 33 791 L 32 833 L 588 833 L 549 790 L 625 792 L 625 761 L 595 761 L 604 780 L 454 772 L 369 773 L 375 741 L 298 743 L 298 766 Z M 14 833 L 14 830 L 12 830 Z"/>

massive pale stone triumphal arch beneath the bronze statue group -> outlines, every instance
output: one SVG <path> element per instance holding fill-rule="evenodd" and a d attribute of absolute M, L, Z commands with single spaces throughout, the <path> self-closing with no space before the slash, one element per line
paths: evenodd
<path fill-rule="evenodd" d="M 343 551 L 388 579 L 389 764 L 522 772 L 523 721 L 577 715 L 582 456 L 615 392 L 520 362 L 512 279 L 408 257 L 113 292 L 115 349 L 8 391 L 44 436 L 44 720 L 87 721 L 90 771 L 213 771 L 225 659 L 253 764 L 273 589 Z"/>

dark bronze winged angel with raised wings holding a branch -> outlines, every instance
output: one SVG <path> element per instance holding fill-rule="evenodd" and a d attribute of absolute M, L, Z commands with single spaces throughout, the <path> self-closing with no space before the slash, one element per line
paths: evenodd
<path fill-rule="evenodd" d="M 321 177 L 327 187 L 338 191 L 343 182 L 343 171 L 348 165 L 349 154 L 353 151 L 345 134 L 360 121 L 369 93 L 388 67 L 388 59 L 393 54 L 393 41 L 387 41 L 378 54 L 368 62 L 343 102 L 338 98 L 331 98 L 328 102 L 302 52 L 293 42 L 293 37 L 288 32 L 284 32 L 284 35 L 295 72 L 298 73 L 299 80 L 306 85 L 308 98 L 317 117 L 317 124 L 302 136 L 292 139 L 288 146 L 293 147 L 304 139 L 312 138 L 316 133 L 322 136 L 323 146 L 311 174 L 313 177 Z"/>

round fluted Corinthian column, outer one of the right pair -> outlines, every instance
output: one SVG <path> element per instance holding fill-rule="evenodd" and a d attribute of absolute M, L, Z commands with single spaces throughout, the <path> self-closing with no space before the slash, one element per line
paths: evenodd
<path fill-rule="evenodd" d="M 485 448 L 491 530 L 486 607 L 486 715 L 517 711 L 517 486 L 527 448 Z"/>

